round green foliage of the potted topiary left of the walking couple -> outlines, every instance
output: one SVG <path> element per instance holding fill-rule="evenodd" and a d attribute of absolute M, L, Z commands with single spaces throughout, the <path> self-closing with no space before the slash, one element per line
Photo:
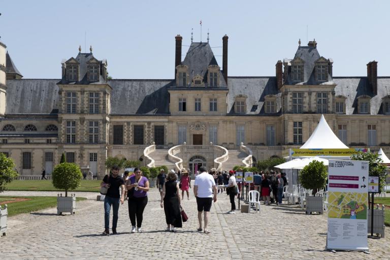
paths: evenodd
<path fill-rule="evenodd" d="M 80 167 L 71 163 L 57 165 L 51 174 L 53 186 L 65 190 L 65 197 L 68 197 L 68 190 L 74 190 L 80 185 L 82 178 Z"/>

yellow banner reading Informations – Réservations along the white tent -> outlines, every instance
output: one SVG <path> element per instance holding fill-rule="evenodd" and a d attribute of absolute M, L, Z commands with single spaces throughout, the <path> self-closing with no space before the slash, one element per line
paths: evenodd
<path fill-rule="evenodd" d="M 366 148 L 350 149 L 291 149 L 291 156 L 351 156 L 358 151 L 367 152 Z"/>

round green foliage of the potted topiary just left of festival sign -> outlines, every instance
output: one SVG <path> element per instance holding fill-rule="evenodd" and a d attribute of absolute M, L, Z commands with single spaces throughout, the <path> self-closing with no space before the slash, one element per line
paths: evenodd
<path fill-rule="evenodd" d="M 313 194 L 327 184 L 327 167 L 322 161 L 313 160 L 299 174 L 299 182 L 306 189 L 312 189 Z"/>

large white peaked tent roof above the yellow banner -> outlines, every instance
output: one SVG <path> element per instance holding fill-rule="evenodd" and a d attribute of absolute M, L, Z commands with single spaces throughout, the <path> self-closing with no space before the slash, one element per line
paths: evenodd
<path fill-rule="evenodd" d="M 313 134 L 300 149 L 348 149 L 348 146 L 333 133 L 331 127 L 321 115 Z"/>

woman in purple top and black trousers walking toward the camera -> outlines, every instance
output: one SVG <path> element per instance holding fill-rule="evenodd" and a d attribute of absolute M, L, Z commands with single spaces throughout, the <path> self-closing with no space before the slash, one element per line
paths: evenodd
<path fill-rule="evenodd" d="M 131 176 L 127 183 L 128 215 L 132 222 L 132 233 L 138 230 L 141 233 L 142 215 L 148 203 L 149 181 L 142 176 L 140 169 L 134 169 L 134 176 Z M 137 227 L 136 227 L 137 220 Z"/>

